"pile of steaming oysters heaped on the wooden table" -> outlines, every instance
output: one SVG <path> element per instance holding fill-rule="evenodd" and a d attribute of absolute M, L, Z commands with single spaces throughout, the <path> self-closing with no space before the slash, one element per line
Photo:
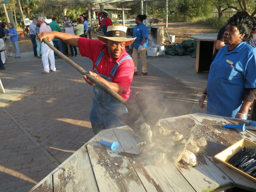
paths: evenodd
<path fill-rule="evenodd" d="M 177 131 L 165 129 L 159 122 L 151 129 L 143 116 L 134 122 L 134 128 L 140 130 L 145 140 L 138 143 L 139 151 L 147 153 L 158 166 L 165 165 L 167 161 L 182 161 L 186 166 L 196 166 L 198 162 L 195 153 L 199 152 L 200 147 L 207 145 L 204 137 L 195 139 L 191 133 L 184 137 Z"/>

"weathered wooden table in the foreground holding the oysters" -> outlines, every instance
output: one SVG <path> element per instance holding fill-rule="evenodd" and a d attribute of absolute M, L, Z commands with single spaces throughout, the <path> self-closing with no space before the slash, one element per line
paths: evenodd
<path fill-rule="evenodd" d="M 100 140 L 118 141 L 124 151 L 139 153 L 141 140 L 128 127 L 101 131 L 47 175 L 30 191 L 221 191 L 235 186 L 256 191 L 256 183 L 214 159 L 214 155 L 242 138 L 256 141 L 256 132 L 225 129 L 224 124 L 242 124 L 248 121 L 190 114 L 160 120 L 165 128 L 179 131 L 184 136 L 204 136 L 207 145 L 196 154 L 198 165 L 180 167 L 167 162 L 155 166 L 150 159 L 133 162 L 118 155 L 117 149 L 100 145 Z M 106 162 L 107 161 L 107 162 Z"/>

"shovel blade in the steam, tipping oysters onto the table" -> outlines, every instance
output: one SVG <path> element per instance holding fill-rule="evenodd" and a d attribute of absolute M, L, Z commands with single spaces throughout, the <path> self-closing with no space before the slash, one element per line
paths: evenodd
<path fill-rule="evenodd" d="M 134 121 L 141 115 L 144 116 L 145 122 L 153 127 L 166 111 L 166 107 L 162 103 L 159 103 L 140 92 L 137 92 L 135 102 L 126 105 L 126 107 L 128 113 L 120 118 L 131 128 L 133 127 Z"/>

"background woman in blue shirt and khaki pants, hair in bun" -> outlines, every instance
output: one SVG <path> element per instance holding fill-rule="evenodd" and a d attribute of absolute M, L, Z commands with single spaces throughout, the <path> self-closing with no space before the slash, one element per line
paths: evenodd
<path fill-rule="evenodd" d="M 137 65 L 138 56 L 140 55 L 140 60 L 142 64 L 142 73 L 140 76 L 147 75 L 147 59 L 146 53 L 148 48 L 148 31 L 147 27 L 144 25 L 143 20 L 147 18 L 147 15 L 137 15 L 135 19 L 135 27 L 133 28 L 133 37 L 136 37 L 133 46 L 132 59 L 134 62 L 134 75 L 138 75 Z M 129 46 L 131 48 L 131 46 Z"/>

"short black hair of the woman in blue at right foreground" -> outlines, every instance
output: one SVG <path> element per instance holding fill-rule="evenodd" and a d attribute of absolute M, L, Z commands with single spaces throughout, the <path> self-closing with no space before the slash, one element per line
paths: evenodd
<path fill-rule="evenodd" d="M 251 31 L 254 28 L 252 18 L 246 11 L 238 11 L 226 22 L 226 25 L 237 27 L 239 33 L 244 33 L 243 41 L 249 41 L 251 37 Z"/>

